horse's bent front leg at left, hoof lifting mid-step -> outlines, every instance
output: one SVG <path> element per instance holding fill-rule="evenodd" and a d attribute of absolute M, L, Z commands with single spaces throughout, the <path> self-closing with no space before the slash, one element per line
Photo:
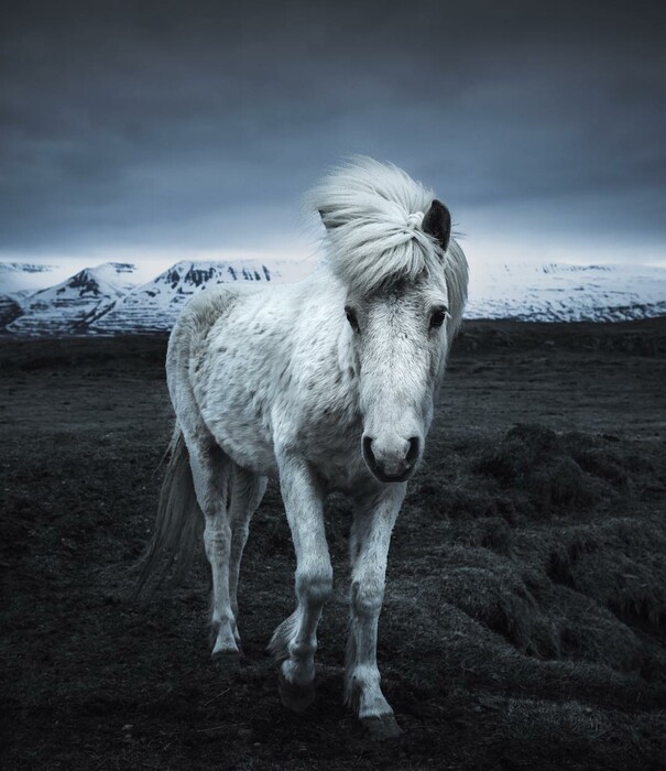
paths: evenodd
<path fill-rule="evenodd" d="M 269 650 L 281 662 L 280 697 L 294 712 L 315 698 L 317 626 L 332 593 L 324 528 L 324 491 L 307 463 L 283 458 L 280 485 L 296 552 L 296 610 L 277 627 Z"/>

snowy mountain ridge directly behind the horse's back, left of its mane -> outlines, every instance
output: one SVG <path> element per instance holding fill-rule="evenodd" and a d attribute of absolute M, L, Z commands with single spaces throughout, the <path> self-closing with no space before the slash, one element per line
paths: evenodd
<path fill-rule="evenodd" d="M 206 286 L 245 281 L 280 283 L 297 281 L 303 274 L 301 263 L 288 261 L 178 262 L 119 300 L 91 324 L 90 330 L 100 334 L 167 330 L 183 305 Z"/>

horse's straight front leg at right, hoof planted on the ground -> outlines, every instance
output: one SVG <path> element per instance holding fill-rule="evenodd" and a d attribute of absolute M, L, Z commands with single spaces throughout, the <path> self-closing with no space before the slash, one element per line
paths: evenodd
<path fill-rule="evenodd" d="M 356 502 L 351 528 L 351 623 L 347 642 L 345 699 L 371 736 L 402 732 L 380 687 L 376 665 L 378 622 L 384 599 L 391 532 L 406 485 L 390 485 Z"/>

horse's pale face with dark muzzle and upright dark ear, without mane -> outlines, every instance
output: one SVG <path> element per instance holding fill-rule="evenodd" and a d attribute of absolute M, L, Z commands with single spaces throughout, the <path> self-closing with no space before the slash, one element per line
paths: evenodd
<path fill-rule="evenodd" d="M 423 456 L 451 323 L 443 264 L 448 209 L 434 200 L 425 215 L 408 216 L 404 235 L 434 240 L 440 264 L 413 279 L 389 276 L 369 292 L 352 285 L 343 308 L 346 345 L 359 382 L 361 452 L 383 482 L 406 481 Z"/>

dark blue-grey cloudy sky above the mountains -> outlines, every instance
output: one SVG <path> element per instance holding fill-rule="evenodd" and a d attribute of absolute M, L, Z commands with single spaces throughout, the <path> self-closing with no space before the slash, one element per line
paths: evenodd
<path fill-rule="evenodd" d="M 350 153 L 489 258 L 666 258 L 664 2 L 15 3 L 0 258 L 303 249 Z"/>

